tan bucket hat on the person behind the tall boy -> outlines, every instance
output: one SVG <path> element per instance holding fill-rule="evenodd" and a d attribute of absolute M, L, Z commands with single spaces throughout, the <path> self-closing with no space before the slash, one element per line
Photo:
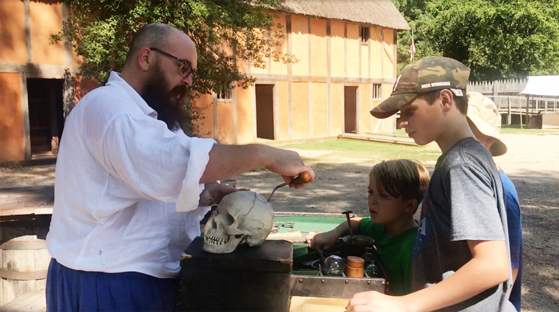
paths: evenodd
<path fill-rule="evenodd" d="M 491 98 L 475 91 L 466 93 L 467 95 L 467 118 L 472 121 L 479 132 L 488 137 L 495 138 L 495 143 L 491 145 L 491 155 L 501 156 L 507 153 L 507 145 L 505 145 L 500 136 L 501 131 L 501 114 L 497 109 L 497 105 L 491 101 Z"/>

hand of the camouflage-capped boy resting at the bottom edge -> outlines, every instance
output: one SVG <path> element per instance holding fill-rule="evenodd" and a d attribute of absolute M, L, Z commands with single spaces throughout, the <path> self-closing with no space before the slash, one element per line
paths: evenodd
<path fill-rule="evenodd" d="M 403 297 L 393 297 L 380 292 L 359 292 L 349 301 L 348 312 L 408 312 Z"/>

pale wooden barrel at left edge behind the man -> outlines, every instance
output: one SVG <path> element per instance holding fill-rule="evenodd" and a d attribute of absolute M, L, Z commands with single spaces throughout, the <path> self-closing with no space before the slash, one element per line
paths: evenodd
<path fill-rule="evenodd" d="M 50 216 L 49 216 L 50 217 Z M 35 216 L 0 219 L 0 305 L 45 288 L 50 254 L 48 222 Z"/>

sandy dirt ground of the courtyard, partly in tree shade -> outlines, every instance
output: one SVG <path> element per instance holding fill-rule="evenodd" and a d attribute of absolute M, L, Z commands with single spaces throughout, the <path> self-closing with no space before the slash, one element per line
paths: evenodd
<path fill-rule="evenodd" d="M 523 311 L 559 311 L 559 135 L 503 135 L 509 151 L 495 158 L 516 185 L 521 201 L 524 239 Z M 324 151 L 299 151 L 317 163 L 317 179 L 308 188 L 282 188 L 273 198 L 276 211 L 368 213 L 367 174 L 375 165 L 362 158 L 321 162 Z M 433 163 L 427 164 L 433 170 Z M 0 168 L 0 188 L 54 184 L 55 166 Z M 268 195 L 282 182 L 254 170 L 236 177 L 238 187 Z"/>

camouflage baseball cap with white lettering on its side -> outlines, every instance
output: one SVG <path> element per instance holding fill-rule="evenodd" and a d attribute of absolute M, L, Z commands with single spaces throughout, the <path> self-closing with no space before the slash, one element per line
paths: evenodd
<path fill-rule="evenodd" d="M 419 94 L 450 89 L 455 96 L 465 96 L 470 68 L 448 57 L 424 57 L 402 69 L 389 98 L 371 110 L 376 118 L 388 118 Z"/>

